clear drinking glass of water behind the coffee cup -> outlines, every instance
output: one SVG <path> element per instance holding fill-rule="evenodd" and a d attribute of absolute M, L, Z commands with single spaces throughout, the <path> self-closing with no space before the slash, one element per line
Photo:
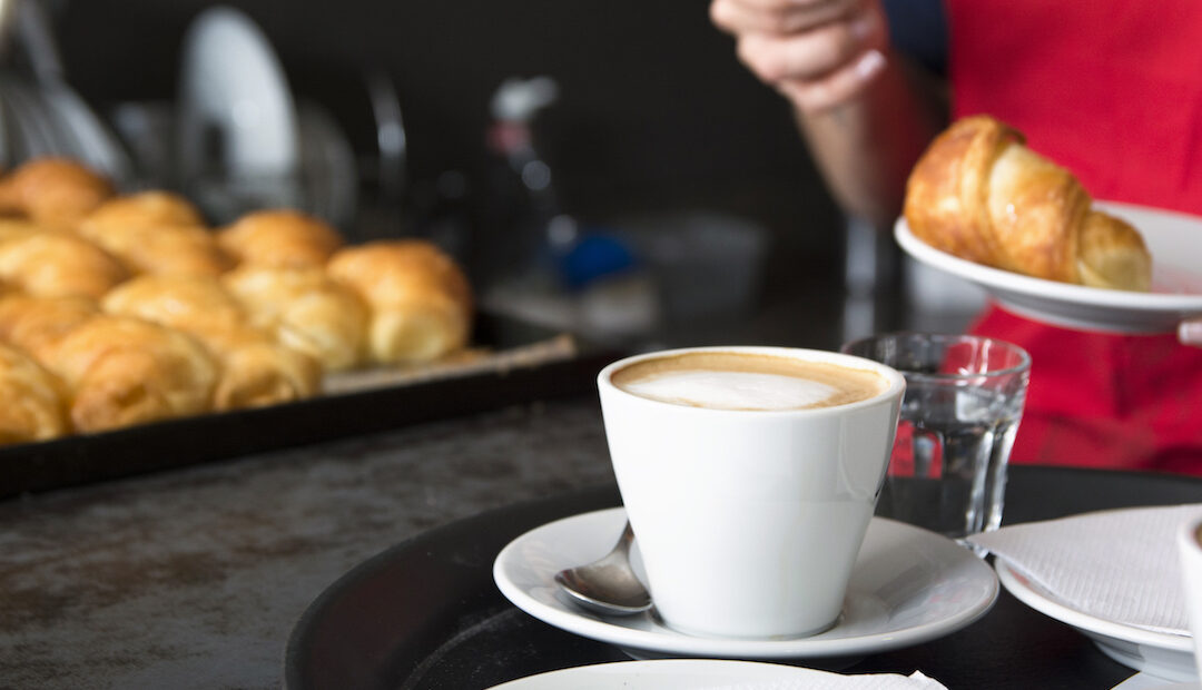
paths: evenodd
<path fill-rule="evenodd" d="M 905 376 L 876 514 L 956 540 L 998 529 L 1031 359 L 977 335 L 887 333 L 843 346 Z"/>

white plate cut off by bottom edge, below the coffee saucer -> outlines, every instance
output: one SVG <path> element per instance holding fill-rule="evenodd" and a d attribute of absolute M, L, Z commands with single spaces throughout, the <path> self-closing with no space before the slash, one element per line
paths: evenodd
<path fill-rule="evenodd" d="M 829 684 L 835 673 L 763 664 L 760 661 L 724 661 L 715 659 L 659 659 L 654 661 L 615 661 L 551 671 L 494 685 L 492 690 L 695 690 L 696 688 L 739 688 L 743 683 L 785 683 L 803 688 L 803 683 Z M 776 686 L 776 685 L 769 685 Z"/>

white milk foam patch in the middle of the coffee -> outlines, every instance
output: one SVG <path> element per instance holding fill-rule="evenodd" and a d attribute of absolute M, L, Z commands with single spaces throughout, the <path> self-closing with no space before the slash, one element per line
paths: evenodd
<path fill-rule="evenodd" d="M 624 387 L 662 403 L 719 410 L 797 410 L 821 405 L 839 393 L 808 379 L 748 371 L 671 371 Z"/>

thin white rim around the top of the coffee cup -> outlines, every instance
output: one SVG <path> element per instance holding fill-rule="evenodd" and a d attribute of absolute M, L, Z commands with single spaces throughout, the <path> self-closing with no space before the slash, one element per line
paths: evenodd
<path fill-rule="evenodd" d="M 784 357 L 797 356 L 798 353 L 805 355 L 809 362 L 832 362 L 837 364 L 843 364 L 845 367 L 856 369 L 869 369 L 876 374 L 880 374 L 888 382 L 888 386 L 881 392 L 864 398 L 863 400 L 856 400 L 853 403 L 845 403 L 843 405 L 832 405 L 826 408 L 799 408 L 790 410 L 726 410 L 718 408 L 697 408 L 692 405 L 678 405 L 676 403 L 665 403 L 662 400 L 653 400 L 650 398 L 644 398 L 642 395 L 636 395 L 629 391 L 623 391 L 618 386 L 613 385 L 611 380 L 614 371 L 624 367 L 629 367 L 637 362 L 644 359 L 654 359 L 659 357 L 674 357 L 677 355 L 689 355 L 692 352 L 738 352 L 748 355 L 775 355 Z M 623 399 L 627 399 L 633 404 L 639 405 L 653 405 L 654 409 L 662 410 L 665 408 L 688 410 L 689 414 L 698 415 L 754 415 L 756 418 L 767 417 L 791 417 L 791 416 L 826 416 L 826 415 L 840 415 L 851 410 L 859 410 L 863 408 L 871 408 L 880 405 L 891 400 L 894 395 L 899 399 L 902 394 L 905 393 L 906 381 L 905 376 L 897 369 L 889 367 L 888 364 L 882 364 L 875 362 L 867 357 L 859 357 L 856 355 L 847 355 L 845 352 L 834 352 L 831 350 L 816 350 L 809 347 L 785 347 L 775 345 L 706 345 L 698 347 L 674 347 L 671 350 L 655 350 L 651 352 L 641 352 L 638 355 L 631 355 L 629 357 L 623 357 L 609 364 L 606 364 L 600 373 L 597 373 L 597 388 L 613 392 L 614 394 L 621 395 Z"/>

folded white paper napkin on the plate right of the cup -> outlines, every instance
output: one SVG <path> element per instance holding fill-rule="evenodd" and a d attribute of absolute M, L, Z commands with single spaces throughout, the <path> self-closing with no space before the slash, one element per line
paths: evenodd
<path fill-rule="evenodd" d="M 1129 508 L 1005 527 L 974 545 L 1006 560 L 1065 606 L 1095 618 L 1189 635 L 1173 541 L 1202 504 Z"/>

